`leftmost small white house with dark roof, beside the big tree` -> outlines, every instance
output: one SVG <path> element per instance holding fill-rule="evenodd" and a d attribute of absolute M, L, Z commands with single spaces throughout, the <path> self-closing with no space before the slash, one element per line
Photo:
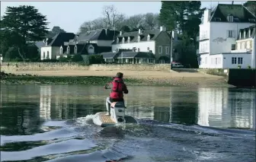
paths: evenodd
<path fill-rule="evenodd" d="M 60 46 L 64 46 L 64 42 L 73 40 L 75 37 L 75 33 L 58 33 L 53 38 L 43 40 L 45 44 L 41 46 L 40 59 L 56 59 Z"/>

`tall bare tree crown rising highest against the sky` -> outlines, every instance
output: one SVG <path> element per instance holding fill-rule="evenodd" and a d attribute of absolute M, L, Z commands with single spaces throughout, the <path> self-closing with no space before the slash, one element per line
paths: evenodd
<path fill-rule="evenodd" d="M 125 16 L 118 13 L 114 5 L 104 6 L 102 14 L 104 15 L 104 22 L 110 29 L 114 29 L 114 27 L 119 26 L 125 20 Z"/>

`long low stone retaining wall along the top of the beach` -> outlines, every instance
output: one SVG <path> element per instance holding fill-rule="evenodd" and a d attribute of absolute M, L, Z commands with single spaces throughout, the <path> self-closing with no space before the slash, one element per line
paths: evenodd
<path fill-rule="evenodd" d="M 2 62 L 1 71 L 59 71 L 59 70 L 91 70 L 91 71 L 110 71 L 110 70 L 127 70 L 127 71 L 169 71 L 168 64 L 136 64 L 136 65 L 81 65 L 78 63 L 67 62 Z"/>

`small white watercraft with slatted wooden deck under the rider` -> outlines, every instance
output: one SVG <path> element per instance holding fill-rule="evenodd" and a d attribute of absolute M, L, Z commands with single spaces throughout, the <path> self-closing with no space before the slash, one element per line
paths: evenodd
<path fill-rule="evenodd" d="M 106 107 L 109 103 L 110 100 L 109 97 L 107 97 Z M 108 112 L 96 113 L 93 122 L 94 124 L 101 125 L 102 127 L 115 124 L 138 123 L 136 119 L 134 119 L 132 116 L 127 116 L 125 113 L 126 106 L 123 102 L 110 103 L 110 115 Z"/>

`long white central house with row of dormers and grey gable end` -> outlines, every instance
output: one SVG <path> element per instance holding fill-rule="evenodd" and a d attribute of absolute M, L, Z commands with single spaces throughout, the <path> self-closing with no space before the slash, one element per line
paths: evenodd
<path fill-rule="evenodd" d="M 174 34 L 174 42 L 178 39 Z M 112 51 L 133 49 L 134 52 L 152 52 L 158 63 L 170 62 L 171 36 L 165 27 L 156 30 L 141 30 L 122 33 L 112 43 Z"/>

